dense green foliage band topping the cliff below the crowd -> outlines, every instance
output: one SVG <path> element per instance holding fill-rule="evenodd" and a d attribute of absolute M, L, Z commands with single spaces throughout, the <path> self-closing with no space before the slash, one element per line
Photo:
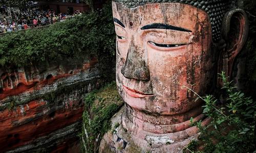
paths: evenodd
<path fill-rule="evenodd" d="M 0 37 L 0 67 L 27 66 L 57 59 L 115 55 L 111 4 L 57 22 L 49 28 L 8 33 Z"/>

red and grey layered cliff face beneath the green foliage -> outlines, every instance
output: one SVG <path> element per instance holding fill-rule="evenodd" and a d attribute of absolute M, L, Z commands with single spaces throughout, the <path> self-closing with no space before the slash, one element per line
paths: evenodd
<path fill-rule="evenodd" d="M 0 69 L 0 152 L 79 152 L 83 95 L 98 88 L 96 58 Z"/>

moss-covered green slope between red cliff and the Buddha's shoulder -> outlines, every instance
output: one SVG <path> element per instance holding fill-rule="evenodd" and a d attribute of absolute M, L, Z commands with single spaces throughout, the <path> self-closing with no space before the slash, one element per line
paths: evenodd
<path fill-rule="evenodd" d="M 84 97 L 82 133 L 80 134 L 82 151 L 97 152 L 100 139 L 111 129 L 112 116 L 122 106 L 116 83 L 94 90 Z M 119 126 L 116 124 L 116 126 Z"/>

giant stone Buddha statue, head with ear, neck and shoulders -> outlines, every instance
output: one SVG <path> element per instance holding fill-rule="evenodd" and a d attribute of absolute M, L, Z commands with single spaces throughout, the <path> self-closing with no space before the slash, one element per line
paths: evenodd
<path fill-rule="evenodd" d="M 228 0 L 114 0 L 116 81 L 121 125 L 100 152 L 179 152 L 198 136 L 190 125 L 208 118 L 199 95 L 214 92 L 217 73 L 231 74 L 248 23 Z"/>

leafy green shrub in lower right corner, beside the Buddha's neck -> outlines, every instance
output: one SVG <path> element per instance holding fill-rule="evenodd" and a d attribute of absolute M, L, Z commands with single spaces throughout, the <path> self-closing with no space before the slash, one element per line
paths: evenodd
<path fill-rule="evenodd" d="M 204 152 L 253 152 L 256 149 L 256 103 L 236 91 L 224 72 L 220 75 L 227 95 L 225 107 L 219 107 L 217 99 L 211 95 L 201 97 L 206 103 L 203 113 L 211 122 L 207 126 L 202 126 L 201 121 L 194 123 L 202 133 Z"/>

